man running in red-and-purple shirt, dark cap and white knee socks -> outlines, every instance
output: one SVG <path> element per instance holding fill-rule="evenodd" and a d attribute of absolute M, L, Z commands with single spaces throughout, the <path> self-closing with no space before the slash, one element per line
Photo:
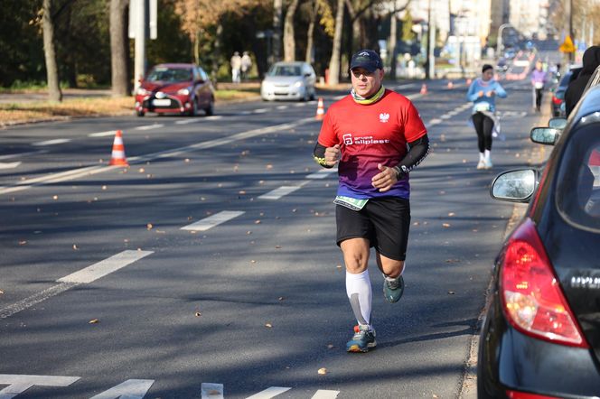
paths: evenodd
<path fill-rule="evenodd" d="M 350 72 L 352 91 L 325 114 L 314 160 L 325 168 L 338 164 L 336 242 L 358 321 L 346 350 L 367 352 L 377 345 L 370 318 L 370 247 L 384 277 L 386 301 L 398 302 L 404 292 L 410 227 L 408 172 L 427 156 L 429 140 L 412 102 L 382 86 L 383 63 L 377 52 L 358 51 Z"/>

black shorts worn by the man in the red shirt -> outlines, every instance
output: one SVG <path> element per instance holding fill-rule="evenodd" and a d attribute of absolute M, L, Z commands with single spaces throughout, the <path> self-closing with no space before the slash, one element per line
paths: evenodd
<path fill-rule="evenodd" d="M 410 201 L 398 197 L 370 199 L 361 210 L 336 205 L 337 245 L 362 237 L 380 255 L 403 261 L 407 257 Z"/>

